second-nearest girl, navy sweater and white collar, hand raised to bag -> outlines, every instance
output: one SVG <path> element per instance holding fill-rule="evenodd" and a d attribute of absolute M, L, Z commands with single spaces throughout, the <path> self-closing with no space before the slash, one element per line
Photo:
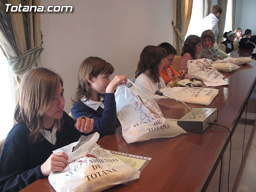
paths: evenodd
<path fill-rule="evenodd" d="M 86 116 L 94 119 L 92 132 L 98 132 L 100 138 L 106 134 L 114 134 L 120 122 L 116 116 L 114 90 L 126 84 L 124 75 L 115 76 L 110 81 L 114 67 L 98 57 L 88 57 L 80 65 L 78 71 L 78 87 L 71 109 L 72 116 Z"/>

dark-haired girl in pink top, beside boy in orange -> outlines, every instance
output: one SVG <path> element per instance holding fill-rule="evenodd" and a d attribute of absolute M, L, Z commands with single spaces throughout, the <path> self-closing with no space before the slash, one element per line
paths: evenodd
<path fill-rule="evenodd" d="M 184 41 L 181 52 L 180 70 L 184 70 L 188 73 L 188 60 L 198 59 L 198 54 L 202 48 L 202 42 L 197 35 L 189 35 Z"/>

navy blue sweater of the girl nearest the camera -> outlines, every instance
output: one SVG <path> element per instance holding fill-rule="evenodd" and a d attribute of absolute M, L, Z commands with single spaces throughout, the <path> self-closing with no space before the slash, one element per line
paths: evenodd
<path fill-rule="evenodd" d="M 53 145 L 46 138 L 32 143 L 28 139 L 30 130 L 25 124 L 16 124 L 8 133 L 0 156 L 0 191 L 19 191 L 37 179 L 44 178 L 40 166 L 53 150 L 77 141 L 82 133 L 74 127 L 75 121 L 66 112 L 62 116 L 63 126 L 57 131 Z"/>

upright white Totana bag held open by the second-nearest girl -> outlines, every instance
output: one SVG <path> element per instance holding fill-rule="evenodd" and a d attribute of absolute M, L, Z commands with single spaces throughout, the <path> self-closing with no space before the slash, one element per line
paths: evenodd
<path fill-rule="evenodd" d="M 130 83 L 130 88 L 118 86 L 115 92 L 117 117 L 127 143 L 186 133 L 177 122 L 164 118 L 156 101 L 144 99 L 140 88 Z"/>

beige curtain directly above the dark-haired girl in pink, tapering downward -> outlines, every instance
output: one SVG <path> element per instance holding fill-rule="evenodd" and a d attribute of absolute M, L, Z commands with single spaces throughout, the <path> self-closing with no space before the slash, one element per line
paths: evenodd
<path fill-rule="evenodd" d="M 176 38 L 177 55 L 180 55 L 184 43 L 184 38 L 188 31 L 193 0 L 175 0 L 174 3 L 176 19 L 175 23 L 172 21 L 172 26 L 174 27 L 174 34 Z"/>

